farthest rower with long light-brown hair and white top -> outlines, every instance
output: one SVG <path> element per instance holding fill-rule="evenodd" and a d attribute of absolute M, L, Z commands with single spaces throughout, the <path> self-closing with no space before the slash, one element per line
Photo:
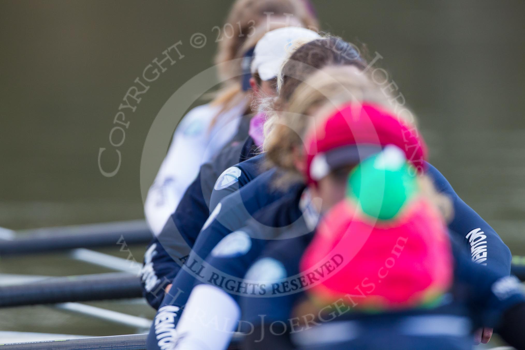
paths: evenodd
<path fill-rule="evenodd" d="M 247 124 L 253 115 L 253 91 L 247 80 L 251 77 L 250 57 L 256 41 L 266 31 L 285 25 L 319 27 L 309 0 L 235 0 L 231 3 L 221 28 L 229 27 L 232 31 L 215 41 L 218 47 L 214 62 L 221 87 L 213 101 L 189 111 L 177 126 L 144 203 L 146 221 L 155 236 L 173 214 L 199 168 L 211 162 L 232 139 L 244 141 L 246 138 Z M 239 61 L 246 75 L 239 76 Z"/>

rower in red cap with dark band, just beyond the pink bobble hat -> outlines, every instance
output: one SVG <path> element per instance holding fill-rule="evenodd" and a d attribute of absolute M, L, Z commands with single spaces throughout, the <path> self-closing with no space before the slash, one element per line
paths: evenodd
<path fill-rule="evenodd" d="M 384 98 L 381 94 L 374 96 L 376 91 L 373 85 L 356 73 L 358 72 L 352 72 L 354 79 L 353 81 L 348 79 L 348 85 L 346 86 L 356 96 L 365 97 L 367 100 L 373 100 L 374 98 L 382 100 Z M 334 96 L 334 98 L 337 97 Z M 287 284 L 285 288 L 274 285 L 286 275 L 283 274 L 285 271 L 276 270 L 276 266 L 272 262 L 262 261 L 258 266 L 250 268 L 247 272 L 250 264 L 256 261 L 257 257 L 265 250 L 266 245 L 272 240 L 287 244 L 288 249 L 286 252 L 281 251 L 280 258 L 285 259 L 295 256 L 295 251 L 300 248 L 300 246 L 296 245 L 296 241 L 301 241 L 305 235 L 308 236 L 309 232 L 316 226 L 317 217 L 314 217 L 315 212 L 331 206 L 330 199 L 335 200 L 333 198 L 334 194 L 338 197 L 343 196 L 343 194 L 333 191 L 333 189 L 344 189 L 343 186 L 340 186 L 340 183 L 341 178 L 345 178 L 346 174 L 348 174 L 349 170 L 346 167 L 359 162 L 359 153 L 352 154 L 352 157 L 349 158 L 344 157 L 344 152 L 341 151 L 357 147 L 362 151 L 361 153 L 369 154 L 369 152 L 377 152 L 377 150 L 381 150 L 381 147 L 391 143 L 403 146 L 406 142 L 403 135 L 406 137 L 406 140 L 409 140 L 408 144 L 418 144 L 419 142 L 418 137 L 406 125 L 388 114 L 379 112 L 380 114 L 373 122 L 367 123 L 359 118 L 359 108 L 356 108 L 356 113 L 354 114 L 355 119 L 350 120 L 350 125 L 342 122 L 330 125 L 330 131 L 339 131 L 335 137 L 331 137 L 333 135 L 329 132 L 318 133 L 319 138 L 324 140 L 324 144 L 319 144 L 318 148 L 313 146 L 309 150 L 310 152 L 307 153 L 310 155 L 312 154 L 311 151 L 315 149 L 319 151 L 321 156 L 322 152 L 337 149 L 335 154 L 331 153 L 331 157 L 325 158 L 325 162 L 328 162 L 327 164 L 323 165 L 320 163 L 321 160 L 313 162 L 313 167 L 316 168 L 313 172 L 313 178 L 316 179 L 316 182 L 319 182 L 318 188 L 320 189 L 318 198 L 325 199 L 322 203 L 314 200 L 318 203 L 312 204 L 311 200 L 304 196 L 304 186 L 301 186 L 299 191 L 294 189 L 293 192 L 282 196 L 274 204 L 263 208 L 260 216 L 259 212 L 256 213 L 254 215 L 255 220 L 249 220 L 250 222 L 248 222 L 247 226 L 226 236 L 212 250 L 207 259 L 209 267 L 205 264 L 202 272 L 208 284 L 199 284 L 194 288 L 185 306 L 181 321 L 176 328 L 177 333 L 180 332 L 181 335 L 186 334 L 185 339 L 190 344 L 193 336 L 197 338 L 202 337 L 203 333 L 201 332 L 212 334 L 216 344 L 225 345 L 229 340 L 228 334 L 224 331 L 214 330 L 213 325 L 201 323 L 201 319 L 195 319 L 192 315 L 208 315 L 212 319 L 219 320 L 221 327 L 223 326 L 222 322 L 224 322 L 227 325 L 226 330 L 231 329 L 230 327 L 232 326 L 235 327 L 238 320 L 260 327 L 261 324 L 256 323 L 256 321 L 258 319 L 260 323 L 261 317 L 257 316 L 256 319 L 253 319 L 250 313 L 259 310 L 257 307 L 258 303 L 268 303 L 268 305 L 271 305 L 272 311 L 284 312 L 283 315 L 286 315 L 286 318 L 288 318 L 289 312 L 286 312 L 287 308 L 280 307 L 283 300 L 281 298 L 284 298 L 284 300 L 289 300 L 290 298 L 291 302 L 293 302 L 300 292 L 298 285 Z M 350 133 L 350 130 L 353 130 L 354 134 Z M 368 132 L 369 130 L 373 130 L 373 132 Z M 423 150 L 424 145 L 417 151 L 419 157 L 416 157 L 416 160 L 413 161 L 414 167 L 423 166 L 420 160 L 423 159 Z M 310 163 L 312 163 L 312 159 L 309 156 L 308 166 L 303 167 L 307 174 L 309 172 L 306 169 L 310 168 Z M 341 171 L 332 173 L 330 169 L 341 169 Z M 243 189 L 248 188 L 248 186 L 243 187 Z M 305 201 L 307 204 L 303 203 Z M 318 208 L 315 208 L 316 205 L 318 205 Z M 276 212 L 276 208 L 280 209 L 279 212 Z M 295 263 L 298 264 L 298 259 Z M 214 273 L 218 276 L 216 277 Z M 243 280 L 245 274 L 246 277 Z M 203 279 L 201 279 L 201 282 L 204 282 Z M 244 301 L 249 307 L 249 310 L 244 312 L 242 318 L 237 305 L 239 300 Z M 256 307 L 252 309 L 251 306 Z M 259 315 L 259 313 L 256 315 Z M 270 313 L 261 315 L 274 316 Z M 274 320 L 272 319 L 272 321 Z M 224 347 L 217 345 L 213 348 L 222 349 Z"/>

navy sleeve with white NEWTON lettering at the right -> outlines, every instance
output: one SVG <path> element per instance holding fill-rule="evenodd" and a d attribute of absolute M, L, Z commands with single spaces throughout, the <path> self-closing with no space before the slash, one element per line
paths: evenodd
<path fill-rule="evenodd" d="M 472 208 L 458 197 L 447 179 L 428 165 L 428 175 L 440 193 L 446 194 L 454 205 L 454 219 L 448 228 L 463 240 L 465 249 L 474 262 L 483 264 L 501 274 L 510 274 L 511 253 L 496 231 Z"/>

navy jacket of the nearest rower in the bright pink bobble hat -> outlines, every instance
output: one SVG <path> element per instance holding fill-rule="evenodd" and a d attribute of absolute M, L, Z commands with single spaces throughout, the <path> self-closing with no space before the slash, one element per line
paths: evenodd
<path fill-rule="evenodd" d="M 246 280 L 265 284 L 267 293 L 262 298 L 249 295 L 241 298 L 242 324 L 251 328 L 245 330 L 250 336 L 244 348 L 253 348 L 254 344 L 257 349 L 270 348 L 276 342 L 290 346 L 286 337 L 272 339 L 269 325 L 273 323 L 286 325 L 274 332 L 291 334 L 297 348 L 304 345 L 318 350 L 466 350 L 472 348 L 472 330 L 480 326 L 497 329 L 502 314 L 525 301 L 521 284 L 515 277 L 469 261 L 470 254 L 453 242 L 454 284 L 435 307 L 371 314 L 352 310 L 352 304 L 335 302 L 319 313 L 293 314 L 293 307 L 306 300 L 301 282 L 293 282 L 299 280 L 299 261 L 311 237 L 305 235 L 270 243 L 248 270 Z M 286 293 L 287 289 L 295 292 Z M 310 331 L 312 325 L 313 331 Z M 316 325 L 320 325 L 317 330 Z M 521 332 L 519 327 L 512 331 L 516 330 Z"/>

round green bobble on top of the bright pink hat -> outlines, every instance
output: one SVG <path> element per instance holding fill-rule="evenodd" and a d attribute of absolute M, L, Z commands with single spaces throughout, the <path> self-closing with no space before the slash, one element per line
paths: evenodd
<path fill-rule="evenodd" d="M 391 220 L 418 192 L 416 171 L 403 151 L 389 145 L 350 173 L 347 195 L 363 213 L 379 220 Z"/>

